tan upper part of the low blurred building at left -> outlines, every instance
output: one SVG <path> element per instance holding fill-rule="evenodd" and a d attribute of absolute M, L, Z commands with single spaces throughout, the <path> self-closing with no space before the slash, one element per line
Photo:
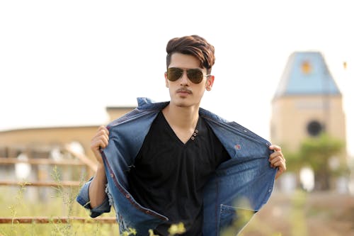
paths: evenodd
<path fill-rule="evenodd" d="M 132 111 L 134 107 L 107 107 L 108 122 Z M 81 152 L 94 159 L 90 151 L 90 141 L 99 125 L 57 126 L 45 128 L 21 128 L 0 131 L 0 157 L 18 157 L 25 153 L 29 158 L 45 158 L 53 150 L 61 150 L 65 145 L 75 143 Z M 8 168 L 2 166 L 1 169 Z"/>

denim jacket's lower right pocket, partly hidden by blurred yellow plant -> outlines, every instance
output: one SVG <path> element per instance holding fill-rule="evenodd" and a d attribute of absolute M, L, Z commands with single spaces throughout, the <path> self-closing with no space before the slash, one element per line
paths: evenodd
<path fill-rule="evenodd" d="M 249 223 L 255 211 L 220 205 L 219 227 L 221 235 L 237 235 Z"/>

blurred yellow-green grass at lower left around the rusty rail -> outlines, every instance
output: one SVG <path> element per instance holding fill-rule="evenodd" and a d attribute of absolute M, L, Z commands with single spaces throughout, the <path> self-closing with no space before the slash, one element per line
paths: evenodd
<path fill-rule="evenodd" d="M 52 179 L 60 182 L 61 176 L 56 168 L 52 170 Z M 82 181 L 84 183 L 84 181 Z M 38 191 L 39 194 L 36 194 Z M 32 192 L 32 194 L 30 194 Z M 40 194 L 41 193 L 41 194 Z M 79 203 L 76 196 L 79 187 L 36 187 L 36 186 L 0 186 L 1 217 L 84 217 L 91 223 L 7 223 L 0 224 L 0 235 L 4 236 L 41 236 L 41 235 L 119 235 L 118 225 L 93 222 L 89 213 Z M 33 200 L 33 194 L 37 200 Z M 31 197 L 32 196 L 32 197 Z M 104 216 L 115 216 L 112 208 Z M 93 223 L 92 223 L 93 222 Z"/>

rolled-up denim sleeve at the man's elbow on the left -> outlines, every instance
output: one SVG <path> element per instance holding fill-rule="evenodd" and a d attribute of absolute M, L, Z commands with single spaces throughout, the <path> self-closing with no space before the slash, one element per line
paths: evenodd
<path fill-rule="evenodd" d="M 106 196 L 105 200 L 101 205 L 96 206 L 96 208 L 91 208 L 90 206 L 90 197 L 89 197 L 89 188 L 93 178 L 84 184 L 79 191 L 79 195 L 76 197 L 76 201 L 84 208 L 90 210 L 91 218 L 96 218 L 98 215 L 102 215 L 102 213 L 110 212 L 110 203 L 108 201 L 108 196 Z"/>

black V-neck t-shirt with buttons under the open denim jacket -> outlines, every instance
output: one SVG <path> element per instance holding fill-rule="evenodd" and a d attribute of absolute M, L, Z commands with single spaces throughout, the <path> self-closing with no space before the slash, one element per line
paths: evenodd
<path fill-rule="evenodd" d="M 169 218 L 156 229 L 168 235 L 173 223 L 185 225 L 185 235 L 202 235 L 203 188 L 229 154 L 205 120 L 199 118 L 188 142 L 173 132 L 162 112 L 158 114 L 128 177 L 130 193 L 144 207 Z"/>

